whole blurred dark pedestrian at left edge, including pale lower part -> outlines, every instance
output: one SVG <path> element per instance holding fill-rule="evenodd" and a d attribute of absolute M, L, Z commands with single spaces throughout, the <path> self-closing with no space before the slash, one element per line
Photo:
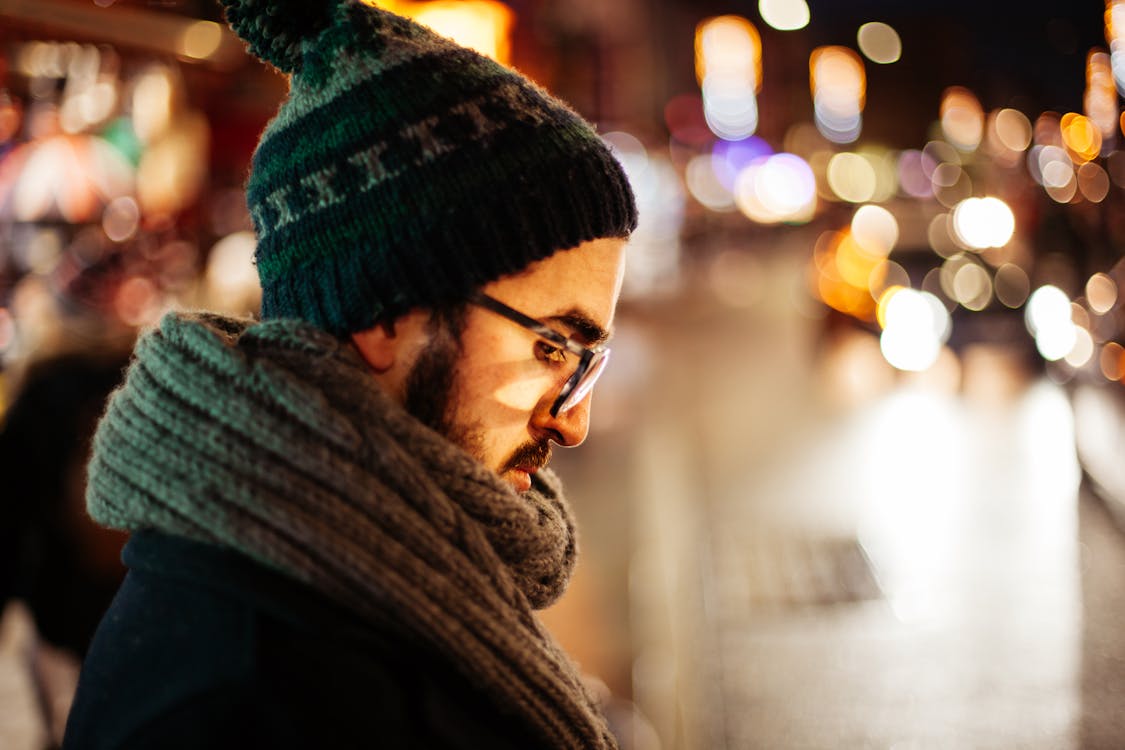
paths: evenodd
<path fill-rule="evenodd" d="M 122 582 L 125 535 L 93 523 L 90 437 L 126 353 L 32 362 L 0 422 L 0 747 L 56 748 L 78 670 Z"/>

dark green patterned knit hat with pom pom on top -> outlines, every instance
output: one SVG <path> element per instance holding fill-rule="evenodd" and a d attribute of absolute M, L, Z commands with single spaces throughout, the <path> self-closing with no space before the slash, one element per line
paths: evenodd
<path fill-rule="evenodd" d="M 636 228 L 605 143 L 519 73 L 359 0 L 223 2 L 291 73 L 246 188 L 262 317 L 345 335 Z"/>

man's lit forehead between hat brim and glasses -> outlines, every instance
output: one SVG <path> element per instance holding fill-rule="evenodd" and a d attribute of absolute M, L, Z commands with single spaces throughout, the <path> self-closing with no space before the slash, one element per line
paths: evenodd
<path fill-rule="evenodd" d="M 610 329 L 624 277 L 626 241 L 594 240 L 486 284 L 485 293 L 534 318 L 578 311 Z"/>

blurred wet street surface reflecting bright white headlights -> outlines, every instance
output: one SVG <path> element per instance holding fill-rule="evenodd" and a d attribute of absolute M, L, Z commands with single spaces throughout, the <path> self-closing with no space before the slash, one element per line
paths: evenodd
<path fill-rule="evenodd" d="M 611 426 L 556 461 L 665 747 L 1122 747 L 1125 536 L 1064 388 L 999 346 L 892 376 L 799 259 L 627 309 Z"/>

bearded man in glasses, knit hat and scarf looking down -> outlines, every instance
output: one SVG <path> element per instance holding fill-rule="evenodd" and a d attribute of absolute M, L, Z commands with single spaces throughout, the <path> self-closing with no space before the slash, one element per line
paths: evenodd
<path fill-rule="evenodd" d="M 636 208 L 525 79 L 356 0 L 228 0 L 291 73 L 254 155 L 260 323 L 170 315 L 94 439 L 133 532 L 68 748 L 612 748 L 533 615 L 574 566 Z"/>

